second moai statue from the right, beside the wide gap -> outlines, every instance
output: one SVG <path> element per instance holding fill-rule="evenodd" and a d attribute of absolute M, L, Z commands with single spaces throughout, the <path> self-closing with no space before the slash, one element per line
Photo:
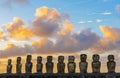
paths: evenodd
<path fill-rule="evenodd" d="M 99 61 L 100 56 L 98 54 L 94 54 L 92 62 L 92 71 L 93 73 L 100 73 L 101 62 Z"/>

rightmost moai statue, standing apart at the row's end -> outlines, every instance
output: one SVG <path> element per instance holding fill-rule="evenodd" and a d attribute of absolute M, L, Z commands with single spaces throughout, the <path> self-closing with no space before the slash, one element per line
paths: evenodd
<path fill-rule="evenodd" d="M 116 62 L 114 61 L 114 55 L 108 55 L 107 69 L 108 73 L 115 73 Z"/>

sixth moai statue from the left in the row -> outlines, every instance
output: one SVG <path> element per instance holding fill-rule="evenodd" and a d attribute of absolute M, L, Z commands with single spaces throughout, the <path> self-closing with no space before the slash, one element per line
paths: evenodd
<path fill-rule="evenodd" d="M 58 57 L 57 70 L 58 70 L 58 73 L 64 73 L 65 72 L 64 56 L 59 56 Z"/>

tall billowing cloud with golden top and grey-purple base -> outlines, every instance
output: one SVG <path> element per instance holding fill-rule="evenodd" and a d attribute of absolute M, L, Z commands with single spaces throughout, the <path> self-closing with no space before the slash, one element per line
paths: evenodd
<path fill-rule="evenodd" d="M 60 14 L 54 8 L 37 8 L 33 20 L 33 31 L 36 35 L 48 37 L 59 29 Z"/>

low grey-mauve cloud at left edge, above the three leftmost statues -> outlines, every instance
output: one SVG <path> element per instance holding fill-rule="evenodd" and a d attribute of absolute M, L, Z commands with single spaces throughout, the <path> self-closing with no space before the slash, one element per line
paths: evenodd
<path fill-rule="evenodd" d="M 24 47 L 16 46 L 15 44 L 7 44 L 6 48 L 0 50 L 0 57 L 6 58 L 10 56 L 23 56 L 33 52 L 32 46 L 25 45 Z"/>

